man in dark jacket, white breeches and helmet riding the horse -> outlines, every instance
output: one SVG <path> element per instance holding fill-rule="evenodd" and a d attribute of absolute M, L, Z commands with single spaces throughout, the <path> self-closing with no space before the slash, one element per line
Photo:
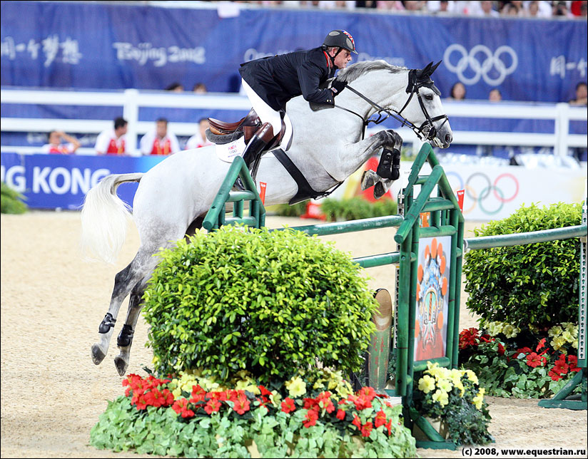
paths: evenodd
<path fill-rule="evenodd" d="M 285 113 L 288 100 L 302 95 L 308 102 L 335 105 L 334 98 L 343 91 L 346 83 L 335 80 L 329 89 L 320 89 L 320 85 L 333 78 L 336 69 L 347 66 L 351 53 L 357 54 L 353 37 L 344 30 L 335 30 L 328 33 L 318 48 L 241 64 L 239 73 L 243 77 L 243 88 L 263 123 L 243 153 L 243 160 L 253 175 L 260 153 L 275 135 L 280 134 L 282 118 L 286 126 L 291 126 Z M 285 150 L 290 148 L 291 137 L 291 127 L 286 128 L 282 140 Z"/>

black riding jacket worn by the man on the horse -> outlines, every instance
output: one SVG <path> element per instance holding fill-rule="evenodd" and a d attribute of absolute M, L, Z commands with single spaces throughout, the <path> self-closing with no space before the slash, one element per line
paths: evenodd
<path fill-rule="evenodd" d="M 288 100 L 300 95 L 308 102 L 334 105 L 333 91 L 319 88 L 335 76 L 336 69 L 329 68 L 329 62 L 319 47 L 245 62 L 239 73 L 276 111 L 285 110 Z"/>

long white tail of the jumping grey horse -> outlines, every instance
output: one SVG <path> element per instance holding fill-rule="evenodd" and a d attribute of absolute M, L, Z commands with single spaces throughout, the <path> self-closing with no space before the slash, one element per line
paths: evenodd
<path fill-rule="evenodd" d="M 86 194 L 81 210 L 81 252 L 86 259 L 114 263 L 126 239 L 130 207 L 116 195 L 118 185 L 138 182 L 142 172 L 104 177 Z"/>

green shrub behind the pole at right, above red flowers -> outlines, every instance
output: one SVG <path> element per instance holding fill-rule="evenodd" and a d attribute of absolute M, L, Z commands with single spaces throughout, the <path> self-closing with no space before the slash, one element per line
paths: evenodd
<path fill-rule="evenodd" d="M 580 204 L 521 207 L 476 236 L 579 225 Z M 465 255 L 467 307 L 487 321 L 540 330 L 577 321 L 579 239 L 472 250 Z"/>

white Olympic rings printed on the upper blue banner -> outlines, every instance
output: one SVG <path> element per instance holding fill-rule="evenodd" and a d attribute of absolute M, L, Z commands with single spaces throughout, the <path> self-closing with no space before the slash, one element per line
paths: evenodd
<path fill-rule="evenodd" d="M 460 54 L 460 60 L 457 61 L 457 64 L 455 65 L 451 63 L 452 53 Z M 480 63 L 476 57 L 478 53 L 482 53 L 485 56 L 482 63 Z M 501 59 L 502 54 L 505 53 L 509 54 L 511 59 L 510 66 L 508 67 Z M 450 71 L 457 74 L 460 81 L 467 85 L 473 85 L 480 81 L 480 78 L 484 78 L 484 81 L 490 86 L 498 86 L 505 81 L 505 78 L 514 72 L 519 65 L 519 57 L 517 56 L 517 53 L 515 53 L 514 49 L 510 46 L 506 45 L 499 46 L 494 54 L 492 54 L 490 48 L 484 45 L 476 45 L 468 53 L 462 45 L 453 43 L 452 45 L 447 46 L 447 49 L 443 54 L 443 61 L 445 62 L 445 66 L 447 66 Z M 467 77 L 464 75 L 467 68 L 472 69 L 474 76 Z M 497 74 L 497 76 L 493 78 L 491 74 Z"/>

